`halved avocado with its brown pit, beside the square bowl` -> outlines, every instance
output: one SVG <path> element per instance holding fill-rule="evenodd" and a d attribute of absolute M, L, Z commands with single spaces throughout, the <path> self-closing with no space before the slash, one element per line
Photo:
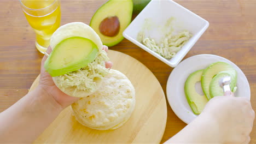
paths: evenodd
<path fill-rule="evenodd" d="M 123 32 L 131 23 L 132 0 L 109 0 L 91 18 L 90 26 L 100 36 L 103 45 L 114 46 L 124 39 Z"/>

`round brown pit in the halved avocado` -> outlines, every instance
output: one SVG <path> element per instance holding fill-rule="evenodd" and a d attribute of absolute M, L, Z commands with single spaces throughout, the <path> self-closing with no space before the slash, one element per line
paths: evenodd
<path fill-rule="evenodd" d="M 100 24 L 101 34 L 107 37 L 115 37 L 120 30 L 120 22 L 117 16 L 106 17 Z"/>

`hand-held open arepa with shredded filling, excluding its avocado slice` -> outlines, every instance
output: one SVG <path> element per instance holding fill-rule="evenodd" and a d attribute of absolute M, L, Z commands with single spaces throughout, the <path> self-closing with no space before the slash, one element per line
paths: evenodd
<path fill-rule="evenodd" d="M 53 80 L 62 92 L 72 97 L 86 97 L 97 91 L 104 75 L 108 74 L 108 69 L 105 68 L 105 61 L 109 61 L 109 58 L 107 57 L 107 53 L 102 50 L 100 37 L 90 26 L 83 22 L 67 23 L 59 27 L 51 37 L 51 49 L 54 49 L 62 40 L 71 37 L 90 39 L 98 47 L 97 56 L 94 61 L 84 68 L 53 77 Z"/>

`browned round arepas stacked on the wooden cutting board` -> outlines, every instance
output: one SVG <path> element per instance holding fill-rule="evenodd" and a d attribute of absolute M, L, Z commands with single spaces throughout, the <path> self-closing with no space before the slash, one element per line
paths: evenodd
<path fill-rule="evenodd" d="M 135 109 L 135 88 L 118 70 L 109 70 L 95 93 L 71 105 L 75 119 L 97 130 L 117 129 Z"/>

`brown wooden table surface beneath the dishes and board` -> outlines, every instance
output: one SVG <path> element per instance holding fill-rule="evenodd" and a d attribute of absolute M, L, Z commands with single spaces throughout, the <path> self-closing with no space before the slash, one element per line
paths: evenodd
<path fill-rule="evenodd" d="M 228 58 L 247 76 L 251 86 L 251 103 L 256 110 L 256 1 L 176 1 L 210 22 L 210 27 L 185 58 L 210 53 Z M 21 11 L 18 1 L 1 1 L 0 9 L 0 112 L 22 98 L 39 74 L 43 57 L 34 46 L 35 34 Z M 104 1 L 61 1 L 61 24 L 81 21 L 89 23 Z M 173 68 L 142 50 L 129 40 L 110 47 L 124 52 L 148 67 L 161 83 L 166 82 Z M 181 74 L 182 76 L 182 74 Z M 185 127 L 167 104 L 167 124 L 162 142 Z M 256 143 L 256 123 L 251 133 Z"/>

